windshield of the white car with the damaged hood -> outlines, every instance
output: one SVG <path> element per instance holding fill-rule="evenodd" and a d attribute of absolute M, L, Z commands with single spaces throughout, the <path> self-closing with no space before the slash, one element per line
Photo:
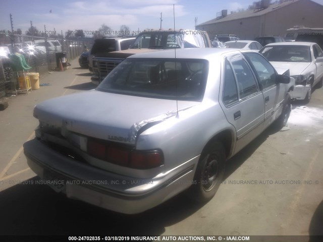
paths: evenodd
<path fill-rule="evenodd" d="M 265 46 L 259 53 L 270 62 L 311 62 L 310 48 L 304 45 Z"/>

